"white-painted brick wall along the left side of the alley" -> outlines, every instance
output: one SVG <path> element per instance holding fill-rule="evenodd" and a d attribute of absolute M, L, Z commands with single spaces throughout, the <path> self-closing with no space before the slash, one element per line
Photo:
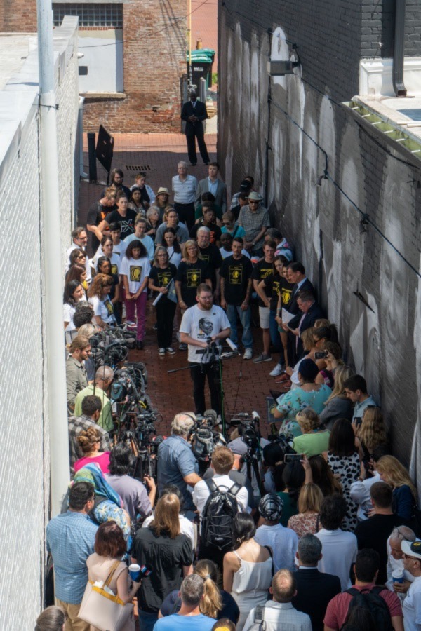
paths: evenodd
<path fill-rule="evenodd" d="M 76 27 L 55 32 L 63 272 L 79 182 Z M 0 90 L 0 627 L 11 631 L 32 629 L 43 609 L 50 495 L 37 74 L 32 50 Z"/>

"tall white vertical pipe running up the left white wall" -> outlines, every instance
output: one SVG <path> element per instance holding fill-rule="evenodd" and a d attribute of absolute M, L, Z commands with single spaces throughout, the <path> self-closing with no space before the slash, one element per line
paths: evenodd
<path fill-rule="evenodd" d="M 46 351 L 48 421 L 50 428 L 51 515 L 60 513 L 69 485 L 69 436 L 65 352 L 63 348 L 62 259 L 60 243 L 60 196 L 58 188 L 57 126 L 53 11 L 51 0 L 37 0 L 39 55 L 39 119 L 42 174 L 42 213 L 46 296 Z"/>

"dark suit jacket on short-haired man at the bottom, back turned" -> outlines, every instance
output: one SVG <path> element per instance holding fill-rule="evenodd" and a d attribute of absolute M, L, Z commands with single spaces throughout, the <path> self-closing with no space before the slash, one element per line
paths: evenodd
<path fill-rule="evenodd" d="M 292 603 L 295 609 L 307 613 L 312 620 L 313 631 L 323 631 L 323 618 L 331 599 L 340 594 L 340 580 L 333 574 L 323 574 L 318 569 L 299 569 L 294 572 L 297 595 Z"/>

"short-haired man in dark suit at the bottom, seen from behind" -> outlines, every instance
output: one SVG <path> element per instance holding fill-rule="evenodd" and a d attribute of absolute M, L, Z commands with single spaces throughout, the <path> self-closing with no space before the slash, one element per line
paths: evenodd
<path fill-rule="evenodd" d="M 312 534 L 303 536 L 296 553 L 298 570 L 294 572 L 297 594 L 292 603 L 295 609 L 308 613 L 313 631 L 323 631 L 323 618 L 329 601 L 340 594 L 340 580 L 333 574 L 319 572 L 321 541 Z"/>

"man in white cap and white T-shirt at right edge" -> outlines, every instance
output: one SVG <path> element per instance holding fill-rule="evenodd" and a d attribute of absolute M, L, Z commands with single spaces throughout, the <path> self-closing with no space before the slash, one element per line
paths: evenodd
<path fill-rule="evenodd" d="M 413 575 L 414 581 L 402 604 L 405 631 L 421 629 L 421 541 L 401 541 L 403 567 Z"/>

